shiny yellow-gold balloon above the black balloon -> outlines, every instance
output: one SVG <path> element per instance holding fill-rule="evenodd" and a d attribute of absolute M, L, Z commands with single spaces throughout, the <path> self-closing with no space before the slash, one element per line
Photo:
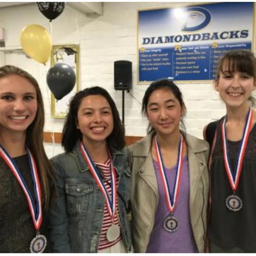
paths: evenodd
<path fill-rule="evenodd" d="M 26 26 L 19 40 L 28 56 L 42 64 L 47 62 L 52 50 L 52 38 L 44 27 L 36 24 Z"/>

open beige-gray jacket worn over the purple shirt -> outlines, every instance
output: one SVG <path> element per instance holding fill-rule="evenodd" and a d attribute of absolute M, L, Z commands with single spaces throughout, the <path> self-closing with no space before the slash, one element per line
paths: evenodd
<path fill-rule="evenodd" d="M 132 234 L 135 252 L 145 252 L 154 226 L 158 185 L 151 156 L 152 134 L 129 147 L 132 166 Z M 190 219 L 199 252 L 204 252 L 209 192 L 208 143 L 185 135 L 190 177 Z"/>

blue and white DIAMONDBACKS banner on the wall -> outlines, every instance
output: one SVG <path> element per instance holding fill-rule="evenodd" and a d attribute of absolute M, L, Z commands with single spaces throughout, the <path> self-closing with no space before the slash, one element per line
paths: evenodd
<path fill-rule="evenodd" d="M 226 51 L 252 49 L 253 3 L 138 12 L 138 81 L 212 80 Z"/>

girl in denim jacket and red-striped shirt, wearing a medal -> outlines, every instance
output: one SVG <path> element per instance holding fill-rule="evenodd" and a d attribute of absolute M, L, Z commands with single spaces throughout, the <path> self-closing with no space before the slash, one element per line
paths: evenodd
<path fill-rule="evenodd" d="M 130 167 L 124 127 L 109 93 L 78 92 L 51 159 L 58 189 L 50 213 L 54 252 L 130 252 Z"/>

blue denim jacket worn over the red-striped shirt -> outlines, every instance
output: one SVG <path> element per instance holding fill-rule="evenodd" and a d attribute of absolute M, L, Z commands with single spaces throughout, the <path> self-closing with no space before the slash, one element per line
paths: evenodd
<path fill-rule="evenodd" d="M 110 150 L 111 151 L 111 150 Z M 118 208 L 122 239 L 131 251 L 131 226 L 128 218 L 131 172 L 127 151 L 111 151 L 119 175 Z M 51 159 L 58 197 L 50 207 L 50 239 L 53 252 L 97 252 L 101 234 L 104 197 L 80 151 L 77 141 L 71 153 Z M 101 169 L 98 168 L 101 172 Z"/>

